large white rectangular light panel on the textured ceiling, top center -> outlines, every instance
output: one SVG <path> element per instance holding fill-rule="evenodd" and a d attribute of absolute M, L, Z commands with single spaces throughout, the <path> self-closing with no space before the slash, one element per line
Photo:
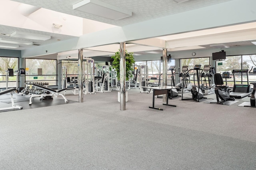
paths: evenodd
<path fill-rule="evenodd" d="M 83 0 L 73 5 L 73 10 L 102 16 L 111 20 L 120 20 L 132 16 L 132 12 L 119 8 L 117 6 L 107 4 L 99 0 Z"/>

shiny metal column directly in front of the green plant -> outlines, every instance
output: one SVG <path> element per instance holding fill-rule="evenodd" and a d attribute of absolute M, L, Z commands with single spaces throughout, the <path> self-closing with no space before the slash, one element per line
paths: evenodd
<path fill-rule="evenodd" d="M 120 42 L 120 111 L 126 110 L 125 103 L 125 78 L 126 78 L 126 65 L 125 65 L 125 42 Z"/>

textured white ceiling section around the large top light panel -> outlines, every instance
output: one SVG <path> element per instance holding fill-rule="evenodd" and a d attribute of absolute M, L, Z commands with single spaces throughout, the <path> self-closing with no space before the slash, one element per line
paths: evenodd
<path fill-rule="evenodd" d="M 152 20 L 180 12 L 194 10 L 230 0 L 189 0 L 176 3 L 173 0 L 100 0 L 114 6 L 132 11 L 132 16 L 121 20 L 110 20 L 100 16 L 94 16 L 78 10 L 73 10 L 73 5 L 81 0 L 13 0 L 24 4 L 30 4 L 65 14 L 79 16 L 90 20 L 104 22 L 116 26 L 125 26 L 146 20 Z"/>

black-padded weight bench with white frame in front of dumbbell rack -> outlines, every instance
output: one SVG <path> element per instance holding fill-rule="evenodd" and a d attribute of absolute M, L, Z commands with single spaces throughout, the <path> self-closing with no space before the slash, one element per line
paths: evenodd
<path fill-rule="evenodd" d="M 42 90 L 45 90 L 45 91 L 48 91 L 50 92 L 51 94 L 40 94 L 40 95 L 35 95 L 33 94 L 30 99 L 29 99 L 29 105 L 32 105 L 32 98 L 33 97 L 41 97 L 41 96 L 51 96 L 51 97 L 57 97 L 58 95 L 62 96 L 63 99 L 65 100 L 66 103 L 68 103 L 68 100 L 66 99 L 66 97 L 64 97 L 64 95 L 60 94 L 61 91 L 64 91 L 66 90 L 67 88 L 64 88 L 64 89 L 60 89 L 60 90 L 54 90 L 54 89 L 50 89 L 48 87 L 44 87 L 42 85 L 38 85 L 38 84 L 33 84 L 34 87 L 38 88 L 38 89 L 42 89 Z"/>

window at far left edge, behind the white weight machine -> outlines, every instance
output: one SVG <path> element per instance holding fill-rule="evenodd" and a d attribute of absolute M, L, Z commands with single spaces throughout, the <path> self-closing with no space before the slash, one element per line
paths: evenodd
<path fill-rule="evenodd" d="M 0 88 L 6 88 L 6 70 L 13 69 L 14 76 L 9 77 L 8 87 L 16 87 L 16 71 L 18 71 L 18 58 L 0 57 Z"/>

